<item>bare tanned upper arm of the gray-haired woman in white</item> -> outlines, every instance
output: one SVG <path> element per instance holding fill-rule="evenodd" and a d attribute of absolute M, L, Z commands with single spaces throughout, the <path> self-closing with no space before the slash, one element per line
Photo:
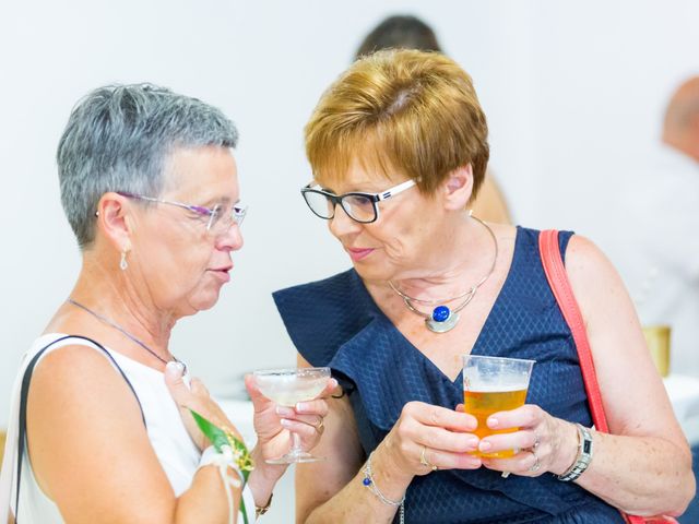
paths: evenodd
<path fill-rule="evenodd" d="M 37 365 L 27 440 L 37 483 L 66 522 L 173 522 L 175 493 L 135 396 L 97 350 L 66 346 Z"/>

